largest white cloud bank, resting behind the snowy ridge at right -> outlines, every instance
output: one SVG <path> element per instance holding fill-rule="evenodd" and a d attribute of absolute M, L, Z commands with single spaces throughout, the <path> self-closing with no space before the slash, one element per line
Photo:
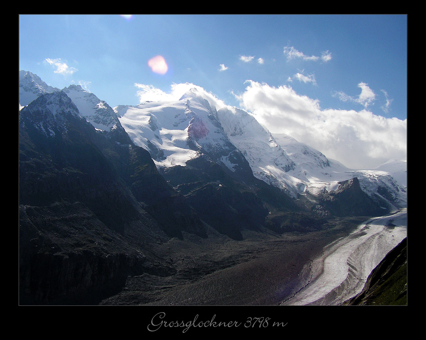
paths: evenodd
<path fill-rule="evenodd" d="M 236 97 L 272 133 L 286 133 L 355 169 L 406 159 L 406 119 L 384 118 L 365 109 L 323 110 L 318 100 L 289 86 L 248 83 Z"/>

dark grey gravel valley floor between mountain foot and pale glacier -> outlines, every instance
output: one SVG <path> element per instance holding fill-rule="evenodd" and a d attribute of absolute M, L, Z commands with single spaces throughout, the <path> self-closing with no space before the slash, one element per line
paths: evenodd
<path fill-rule="evenodd" d="M 362 221 L 334 221 L 305 234 L 246 232 L 244 241 L 217 234 L 172 239 L 157 250 L 176 269 L 174 275 L 128 277 L 124 289 L 101 304 L 278 306 L 318 276 L 315 260 L 324 248 L 350 236 Z"/>

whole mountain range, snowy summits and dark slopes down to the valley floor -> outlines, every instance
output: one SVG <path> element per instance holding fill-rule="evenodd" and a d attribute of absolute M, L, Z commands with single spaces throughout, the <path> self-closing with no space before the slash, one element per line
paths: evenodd
<path fill-rule="evenodd" d="M 404 204 L 388 173 L 334 176 L 320 152 L 194 91 L 112 109 L 20 72 L 20 107 L 23 304 L 98 303 L 129 275 L 172 275 L 158 249 L 173 238 L 318 231 Z"/>

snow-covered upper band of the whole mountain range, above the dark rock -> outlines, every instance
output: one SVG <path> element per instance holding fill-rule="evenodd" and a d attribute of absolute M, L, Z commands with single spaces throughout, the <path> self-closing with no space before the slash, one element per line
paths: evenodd
<path fill-rule="evenodd" d="M 20 72 L 21 105 L 54 91 L 59 89 L 30 72 Z M 406 162 L 388 162 L 372 170 L 346 168 L 291 136 L 270 133 L 242 109 L 217 110 L 196 89 L 176 101 L 148 101 L 113 109 L 81 86 L 71 85 L 62 91 L 97 130 L 125 130 L 135 145 L 150 152 L 158 168 L 185 166 L 203 155 L 231 173 L 247 172 L 250 166 L 256 178 L 294 198 L 335 191 L 341 182 L 357 177 L 370 197 L 392 207 L 406 206 Z"/>

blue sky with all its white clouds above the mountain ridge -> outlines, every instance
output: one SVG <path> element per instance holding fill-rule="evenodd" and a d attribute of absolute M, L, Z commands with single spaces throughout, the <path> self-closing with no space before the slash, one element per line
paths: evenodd
<path fill-rule="evenodd" d="M 333 149 L 339 140 L 362 139 L 364 154 L 377 161 L 360 167 L 406 154 L 405 15 L 22 15 L 19 20 L 20 69 L 51 86 L 81 84 L 114 107 L 190 83 L 248 110 L 272 132 L 291 134 L 346 164 L 348 150 Z M 148 65 L 156 56 L 163 58 L 165 73 Z M 287 98 L 286 104 L 280 98 Z M 301 123 L 305 118 L 316 121 Z M 288 125 L 296 121 L 292 130 Z M 318 127 L 315 135 L 322 141 L 302 132 L 309 125 Z M 333 125 L 351 133 L 330 143 L 337 133 Z M 390 136 L 377 140 L 376 131 L 383 129 L 400 131 L 398 143 L 389 144 Z M 367 147 L 371 136 L 375 146 Z"/>

